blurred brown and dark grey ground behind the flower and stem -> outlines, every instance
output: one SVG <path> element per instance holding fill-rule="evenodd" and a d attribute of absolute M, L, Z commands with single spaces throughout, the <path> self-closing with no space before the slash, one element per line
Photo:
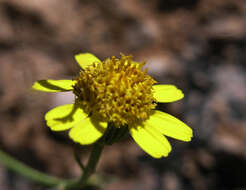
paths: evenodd
<path fill-rule="evenodd" d="M 44 121 L 73 95 L 31 85 L 75 78 L 76 53 L 105 59 L 122 52 L 184 91 L 183 100 L 158 108 L 185 121 L 194 138 L 170 139 L 173 151 L 160 160 L 130 137 L 106 147 L 98 172 L 118 179 L 103 189 L 245 190 L 245 26 L 245 0 L 0 0 L 0 148 L 51 175 L 79 176 L 73 149 L 85 161 L 90 147 Z M 0 164 L 0 189 L 46 188 Z"/>

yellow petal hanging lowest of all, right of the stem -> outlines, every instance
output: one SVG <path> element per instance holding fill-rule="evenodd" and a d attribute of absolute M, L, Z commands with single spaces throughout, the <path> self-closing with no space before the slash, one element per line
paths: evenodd
<path fill-rule="evenodd" d="M 166 157 L 171 151 L 171 145 L 166 137 L 152 126 L 131 126 L 129 130 L 135 142 L 152 157 Z"/>

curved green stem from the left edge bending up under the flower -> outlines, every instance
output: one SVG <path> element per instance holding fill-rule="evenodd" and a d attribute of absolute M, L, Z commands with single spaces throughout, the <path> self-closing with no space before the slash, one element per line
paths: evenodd
<path fill-rule="evenodd" d="M 94 173 L 96 165 L 102 153 L 104 145 L 99 141 L 94 144 L 88 164 L 84 169 L 83 175 L 79 179 L 67 180 L 60 179 L 42 173 L 36 169 L 30 168 L 29 166 L 23 164 L 22 162 L 12 158 L 5 152 L 0 150 L 0 162 L 3 166 L 7 167 L 9 170 L 16 172 L 36 183 L 50 186 L 59 187 L 60 189 L 78 189 L 88 183 L 89 177 Z"/>

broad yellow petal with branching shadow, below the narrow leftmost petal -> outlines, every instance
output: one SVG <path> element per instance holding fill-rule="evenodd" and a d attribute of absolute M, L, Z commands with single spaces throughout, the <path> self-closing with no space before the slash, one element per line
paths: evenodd
<path fill-rule="evenodd" d="M 74 104 L 58 106 L 45 114 L 46 123 L 53 131 L 70 129 L 86 117 L 87 114 Z"/>

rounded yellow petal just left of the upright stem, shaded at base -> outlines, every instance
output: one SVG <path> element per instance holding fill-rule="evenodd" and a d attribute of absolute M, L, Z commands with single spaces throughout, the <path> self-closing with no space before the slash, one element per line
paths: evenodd
<path fill-rule="evenodd" d="M 106 128 L 106 122 L 87 117 L 70 130 L 69 136 L 75 142 L 88 145 L 96 142 L 104 134 Z"/>

